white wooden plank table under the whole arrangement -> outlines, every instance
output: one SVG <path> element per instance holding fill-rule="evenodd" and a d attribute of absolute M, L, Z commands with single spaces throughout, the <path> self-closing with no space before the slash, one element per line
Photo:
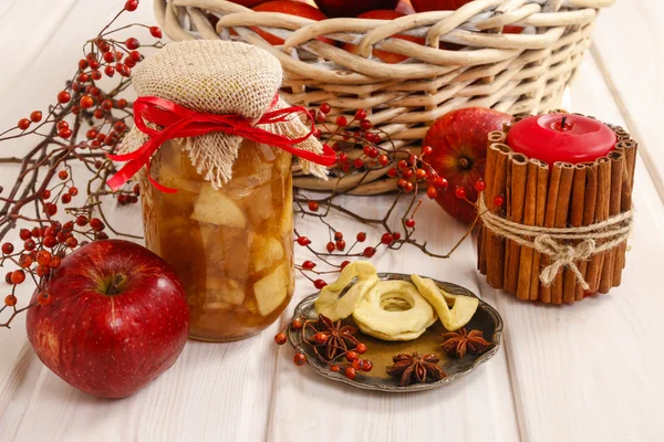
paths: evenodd
<path fill-rule="evenodd" d="M 53 101 L 81 43 L 123 3 L 0 1 L 0 127 Z M 149 4 L 129 18 L 154 22 Z M 504 348 L 489 364 L 446 388 L 408 396 L 356 390 L 294 367 L 292 351 L 273 345 L 281 326 L 274 324 L 239 343 L 189 341 L 176 365 L 134 397 L 97 399 L 44 368 L 19 320 L 0 330 L 0 441 L 664 440 L 663 28 L 663 2 L 619 0 L 601 17 L 570 94 L 570 109 L 624 125 L 641 141 L 632 251 L 623 285 L 610 295 L 571 307 L 517 302 L 475 271 L 473 242 L 448 261 L 408 249 L 376 256 L 378 269 L 474 290 L 507 326 Z M 1 156 L 25 146 L 0 145 Z M 0 167 L 0 185 L 12 181 L 12 167 Z M 373 199 L 371 210 L 387 201 Z M 136 209 L 114 217 L 139 233 Z M 425 204 L 419 220 L 442 251 L 463 232 L 435 204 Z M 300 230 L 314 229 L 298 222 Z M 304 259 L 299 250 L 298 261 Z M 309 293 L 300 278 L 291 307 Z"/>

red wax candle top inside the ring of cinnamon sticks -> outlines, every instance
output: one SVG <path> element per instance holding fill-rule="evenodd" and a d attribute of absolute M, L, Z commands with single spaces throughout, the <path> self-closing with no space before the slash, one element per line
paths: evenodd
<path fill-rule="evenodd" d="M 512 150 L 553 166 L 557 161 L 585 162 L 609 154 L 615 146 L 609 126 L 582 115 L 547 114 L 523 118 L 507 135 Z"/>

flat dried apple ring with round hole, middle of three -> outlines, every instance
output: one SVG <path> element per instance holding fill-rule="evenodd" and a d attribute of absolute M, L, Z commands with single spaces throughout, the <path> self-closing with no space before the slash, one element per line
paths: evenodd
<path fill-rule="evenodd" d="M 395 305 L 396 298 L 403 299 L 409 308 L 387 311 L 383 308 L 385 298 L 392 299 L 391 305 Z M 436 322 L 436 314 L 409 282 L 381 281 L 360 301 L 353 319 L 366 335 L 383 340 L 412 340 Z"/>

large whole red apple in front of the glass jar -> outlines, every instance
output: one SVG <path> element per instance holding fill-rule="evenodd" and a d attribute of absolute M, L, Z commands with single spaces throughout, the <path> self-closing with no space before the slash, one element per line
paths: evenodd
<path fill-rule="evenodd" d="M 46 293 L 50 303 L 28 311 L 30 344 L 55 375 L 91 394 L 134 393 L 166 371 L 187 341 L 183 286 L 164 260 L 138 244 L 82 246 L 62 260 Z"/>

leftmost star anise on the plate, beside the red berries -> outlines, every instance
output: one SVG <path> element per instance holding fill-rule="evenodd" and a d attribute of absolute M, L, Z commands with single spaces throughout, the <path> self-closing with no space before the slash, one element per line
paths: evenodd
<path fill-rule="evenodd" d="M 315 354 L 324 361 L 332 361 L 357 347 L 360 341 L 353 335 L 357 329 L 350 325 L 332 322 L 324 315 L 319 315 L 315 323 L 308 324 L 309 332 L 313 333 L 307 341 L 312 345 Z"/>

